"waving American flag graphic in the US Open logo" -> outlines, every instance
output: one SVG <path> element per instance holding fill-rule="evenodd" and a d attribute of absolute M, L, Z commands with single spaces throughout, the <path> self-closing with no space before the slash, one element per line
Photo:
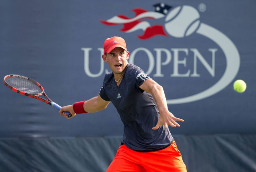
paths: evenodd
<path fill-rule="evenodd" d="M 108 20 L 101 20 L 104 25 L 112 26 L 122 24 L 120 29 L 125 33 L 134 32 L 136 30 L 143 30 L 143 35 L 138 35 L 139 39 L 150 39 L 156 35 L 167 36 L 162 25 L 150 25 L 150 22 L 143 19 L 160 19 L 170 10 L 171 6 L 165 3 L 158 3 L 153 5 L 155 11 L 147 11 L 142 8 L 135 8 L 131 11 L 135 12 L 135 17 L 129 18 L 125 15 L 117 15 Z"/>

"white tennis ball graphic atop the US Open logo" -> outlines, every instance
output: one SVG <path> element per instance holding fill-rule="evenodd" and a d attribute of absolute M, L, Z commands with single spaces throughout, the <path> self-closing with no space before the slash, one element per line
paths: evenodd
<path fill-rule="evenodd" d="M 165 30 L 176 38 L 187 37 L 197 30 L 200 24 L 198 11 L 191 6 L 179 6 L 171 10 L 165 18 Z"/>

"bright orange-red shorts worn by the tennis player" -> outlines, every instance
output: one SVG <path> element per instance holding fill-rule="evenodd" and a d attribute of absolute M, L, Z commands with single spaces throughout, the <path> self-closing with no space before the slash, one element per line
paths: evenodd
<path fill-rule="evenodd" d="M 187 172 L 176 143 L 154 152 L 137 152 L 121 145 L 106 172 Z"/>

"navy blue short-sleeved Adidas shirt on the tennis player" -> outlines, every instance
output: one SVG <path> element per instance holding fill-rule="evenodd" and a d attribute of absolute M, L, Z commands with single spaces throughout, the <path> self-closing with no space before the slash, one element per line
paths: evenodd
<path fill-rule="evenodd" d="M 100 89 L 101 98 L 113 103 L 124 124 L 122 144 L 134 151 L 161 150 L 173 141 L 168 128 L 152 129 L 157 124 L 159 110 L 152 95 L 139 88 L 149 78 L 138 66 L 128 64 L 119 86 L 109 72 Z"/>

